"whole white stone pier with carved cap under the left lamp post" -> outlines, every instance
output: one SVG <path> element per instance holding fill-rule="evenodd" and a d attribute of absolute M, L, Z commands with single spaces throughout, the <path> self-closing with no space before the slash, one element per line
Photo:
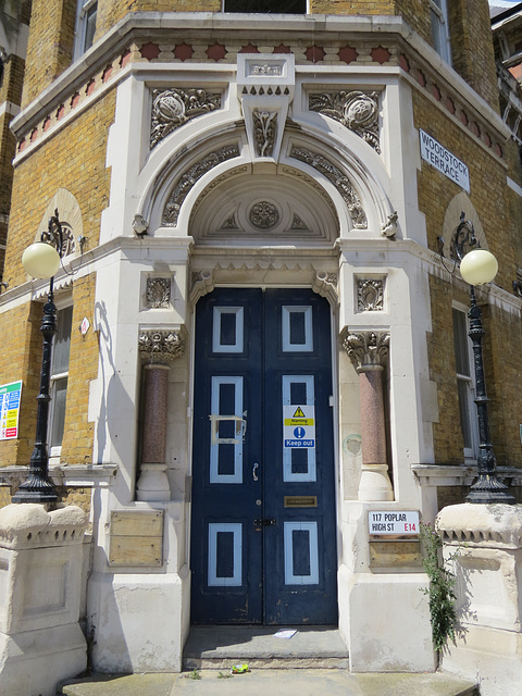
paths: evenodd
<path fill-rule="evenodd" d="M 0 510 L 0 684 L 10 696 L 53 696 L 87 666 L 78 624 L 87 515 L 75 506 Z"/>

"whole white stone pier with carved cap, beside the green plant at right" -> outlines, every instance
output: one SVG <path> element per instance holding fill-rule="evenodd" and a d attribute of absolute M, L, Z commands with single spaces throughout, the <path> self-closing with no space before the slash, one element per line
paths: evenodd
<path fill-rule="evenodd" d="M 457 576 L 461 626 L 443 668 L 477 679 L 482 696 L 518 696 L 522 684 L 522 506 L 463 504 L 437 518 Z M 451 560 L 452 559 L 452 560 Z"/>

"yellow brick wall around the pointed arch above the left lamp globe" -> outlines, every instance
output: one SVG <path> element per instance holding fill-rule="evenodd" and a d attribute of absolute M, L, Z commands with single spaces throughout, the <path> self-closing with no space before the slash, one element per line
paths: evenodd
<path fill-rule="evenodd" d="M 61 187 L 79 204 L 86 249 L 98 245 L 101 212 L 109 200 L 105 152 L 114 103 L 115 92 L 111 91 L 15 167 L 4 270 L 10 287 L 26 279 L 22 253 L 41 232 L 49 200 Z"/>

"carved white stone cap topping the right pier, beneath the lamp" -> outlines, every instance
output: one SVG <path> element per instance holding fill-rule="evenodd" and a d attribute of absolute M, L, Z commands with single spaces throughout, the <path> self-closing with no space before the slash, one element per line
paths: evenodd
<path fill-rule="evenodd" d="M 438 513 L 436 529 L 447 543 L 520 548 L 522 506 L 471 502 L 450 505 Z"/>

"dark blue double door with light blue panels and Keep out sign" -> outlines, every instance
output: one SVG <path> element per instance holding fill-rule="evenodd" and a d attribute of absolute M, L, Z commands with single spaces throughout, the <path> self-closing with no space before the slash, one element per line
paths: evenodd
<path fill-rule="evenodd" d="M 192 623 L 337 622 L 331 361 L 311 290 L 199 300 Z"/>

